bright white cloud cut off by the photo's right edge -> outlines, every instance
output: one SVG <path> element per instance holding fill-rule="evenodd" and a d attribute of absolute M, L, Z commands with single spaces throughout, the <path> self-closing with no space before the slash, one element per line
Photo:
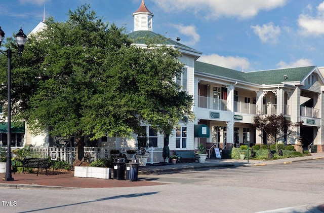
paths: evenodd
<path fill-rule="evenodd" d="M 312 7 L 307 6 L 306 10 L 299 15 L 298 25 L 305 34 L 321 35 L 324 34 L 324 2 L 316 8 L 317 14 L 312 16 Z"/>

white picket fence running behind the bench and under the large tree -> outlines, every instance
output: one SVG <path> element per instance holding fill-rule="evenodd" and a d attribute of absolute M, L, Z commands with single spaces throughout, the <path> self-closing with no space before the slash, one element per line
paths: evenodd
<path fill-rule="evenodd" d="M 17 150 L 17 149 L 23 149 L 24 147 L 11 147 L 11 151 Z M 67 161 L 68 163 L 72 163 L 75 159 L 75 152 L 76 149 L 74 147 L 72 148 L 56 148 L 56 147 L 49 147 L 49 148 L 37 148 L 37 147 L 29 147 L 30 150 L 30 156 L 28 157 L 37 157 L 37 158 L 47 158 L 48 156 L 51 156 L 52 152 L 56 152 L 57 159 L 60 161 Z M 133 148 L 134 149 L 134 148 Z M 127 158 L 135 158 L 135 155 L 127 154 L 127 150 L 132 150 L 132 148 L 100 148 L 100 147 L 85 147 L 85 155 L 90 156 L 90 162 L 93 162 L 98 159 L 109 159 L 111 154 L 111 150 L 119 150 L 119 153 L 121 155 L 126 155 Z M 6 152 L 7 147 L 0 147 L 1 152 Z M 147 160 L 147 163 L 159 163 L 163 162 L 163 148 L 148 148 L 148 155 L 149 158 Z M 12 157 L 16 157 L 12 153 Z"/>

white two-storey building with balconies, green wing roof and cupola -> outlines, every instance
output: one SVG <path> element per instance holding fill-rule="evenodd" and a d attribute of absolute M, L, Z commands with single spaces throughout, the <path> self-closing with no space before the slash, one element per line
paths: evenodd
<path fill-rule="evenodd" d="M 131 38 L 158 35 L 153 32 L 153 13 L 144 1 L 133 16 Z M 141 40 L 135 45 L 145 47 Z M 303 121 L 301 127 L 294 129 L 302 138 L 303 149 L 308 150 L 311 145 L 316 145 L 317 152 L 324 150 L 324 68 L 307 66 L 244 73 L 196 61 L 201 52 L 179 41 L 167 39 L 166 45 L 183 53 L 180 60 L 185 64 L 184 72 L 178 82 L 194 96 L 193 112 L 196 116 L 194 122 L 180 124 L 180 128 L 174 130 L 169 143 L 171 152 L 195 150 L 198 143 L 206 143 L 207 148 L 216 145 L 221 149 L 248 143 L 263 144 L 266 135 L 263 136 L 254 126 L 254 117 L 260 113 L 284 114 L 294 123 Z M 149 137 L 149 146 L 163 147 L 163 135 L 156 133 L 149 125 L 143 125 L 143 128 Z M 132 138 L 103 137 L 98 145 L 135 147 L 136 138 L 137 135 Z M 50 141 L 45 135 L 38 139 L 40 144 Z M 297 145 L 298 137 L 288 136 L 281 142 Z M 32 143 L 37 145 L 25 136 L 24 145 Z M 52 146 L 53 143 L 47 144 Z"/>

